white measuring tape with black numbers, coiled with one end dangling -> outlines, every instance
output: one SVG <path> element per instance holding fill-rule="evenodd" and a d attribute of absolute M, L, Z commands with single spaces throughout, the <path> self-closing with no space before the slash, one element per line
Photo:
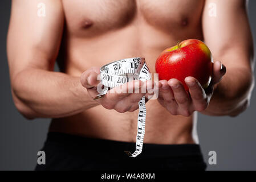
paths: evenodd
<path fill-rule="evenodd" d="M 125 84 L 132 80 L 151 80 L 151 74 L 147 67 L 144 57 L 132 57 L 122 59 L 106 64 L 100 68 L 100 80 L 104 85 L 102 90 L 98 90 L 98 94 L 94 100 L 104 97 L 109 89 Z M 135 158 L 140 155 L 143 148 L 143 139 L 145 135 L 146 122 L 146 105 L 145 96 L 139 101 L 139 114 L 137 119 L 137 135 L 136 135 L 136 150 L 133 154 L 129 151 L 124 151 L 125 154 Z"/>

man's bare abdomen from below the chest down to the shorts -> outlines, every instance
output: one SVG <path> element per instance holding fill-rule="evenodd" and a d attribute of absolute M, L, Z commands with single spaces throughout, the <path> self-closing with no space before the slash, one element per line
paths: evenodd
<path fill-rule="evenodd" d="M 177 39 L 185 40 L 189 36 L 177 35 Z M 200 36 L 194 35 L 194 38 L 200 39 Z M 138 56 L 145 57 L 151 73 L 155 73 L 155 60 L 159 53 L 167 47 L 174 46 L 177 41 L 152 27 L 138 28 L 132 25 L 90 39 L 66 33 L 64 39 L 66 43 L 62 45 L 62 49 L 66 61 L 60 63 L 61 69 L 68 75 L 78 77 L 91 67 L 101 67 L 111 61 Z M 192 137 L 193 115 L 174 116 L 157 100 L 149 100 L 146 107 L 145 143 L 196 142 Z M 50 131 L 135 142 L 137 114 L 138 110 L 121 114 L 98 105 L 70 117 L 52 119 Z"/>

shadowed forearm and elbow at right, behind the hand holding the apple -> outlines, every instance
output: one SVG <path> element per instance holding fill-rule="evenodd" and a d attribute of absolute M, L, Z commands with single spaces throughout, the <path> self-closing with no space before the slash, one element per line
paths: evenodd
<path fill-rule="evenodd" d="M 207 115 L 237 115 L 245 110 L 253 89 L 253 73 L 247 68 L 227 67 L 226 75 L 214 88 Z"/>

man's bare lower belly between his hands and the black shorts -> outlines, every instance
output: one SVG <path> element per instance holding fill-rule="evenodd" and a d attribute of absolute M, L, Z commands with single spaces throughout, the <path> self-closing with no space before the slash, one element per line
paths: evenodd
<path fill-rule="evenodd" d="M 157 100 L 148 101 L 145 126 L 145 143 L 194 143 L 193 117 L 173 116 L 161 108 Z M 71 117 L 53 119 L 50 131 L 90 138 L 136 142 L 137 114 L 117 113 L 96 106 Z"/>

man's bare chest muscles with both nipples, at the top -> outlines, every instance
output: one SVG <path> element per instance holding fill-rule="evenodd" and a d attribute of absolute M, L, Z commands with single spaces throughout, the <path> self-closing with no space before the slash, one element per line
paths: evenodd
<path fill-rule="evenodd" d="M 96 36 L 140 23 L 171 32 L 198 24 L 204 0 L 63 0 L 68 31 Z M 138 22 L 138 21 L 137 21 Z"/>

